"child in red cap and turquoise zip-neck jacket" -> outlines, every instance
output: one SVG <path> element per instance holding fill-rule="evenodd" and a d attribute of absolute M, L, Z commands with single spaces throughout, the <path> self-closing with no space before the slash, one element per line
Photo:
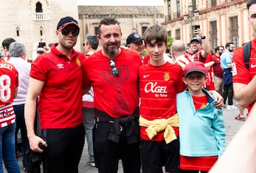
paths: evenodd
<path fill-rule="evenodd" d="M 223 112 L 203 89 L 206 73 L 202 62 L 190 62 L 183 70 L 188 89 L 177 94 L 181 172 L 208 172 L 225 148 Z"/>

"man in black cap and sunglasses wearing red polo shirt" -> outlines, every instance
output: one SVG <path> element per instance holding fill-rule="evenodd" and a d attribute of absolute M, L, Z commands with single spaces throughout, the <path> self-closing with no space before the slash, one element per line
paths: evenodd
<path fill-rule="evenodd" d="M 85 143 L 81 82 L 85 56 L 73 49 L 79 30 L 74 18 L 61 18 L 55 31 L 58 43 L 31 67 L 25 121 L 31 150 L 45 152 L 44 172 L 78 172 Z M 47 141 L 34 132 L 37 99 L 41 133 Z"/>

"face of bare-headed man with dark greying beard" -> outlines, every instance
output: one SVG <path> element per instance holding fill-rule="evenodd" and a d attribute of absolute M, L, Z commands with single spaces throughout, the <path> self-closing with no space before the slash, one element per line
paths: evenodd
<path fill-rule="evenodd" d="M 107 57 L 117 57 L 121 45 L 122 33 L 118 24 L 102 25 L 98 38 L 102 43 L 102 52 Z"/>

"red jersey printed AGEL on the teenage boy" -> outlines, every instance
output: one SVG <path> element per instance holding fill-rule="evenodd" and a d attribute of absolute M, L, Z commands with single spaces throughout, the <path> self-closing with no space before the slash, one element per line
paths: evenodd
<path fill-rule="evenodd" d="M 139 113 L 146 120 L 170 118 L 176 111 L 176 94 L 185 89 L 182 81 L 183 70 L 178 65 L 166 62 L 165 65 L 143 65 L 139 68 L 139 94 L 141 104 Z M 141 127 L 141 138 L 150 140 L 146 127 Z M 178 128 L 174 128 L 178 136 Z M 152 140 L 164 140 L 164 131 Z"/>

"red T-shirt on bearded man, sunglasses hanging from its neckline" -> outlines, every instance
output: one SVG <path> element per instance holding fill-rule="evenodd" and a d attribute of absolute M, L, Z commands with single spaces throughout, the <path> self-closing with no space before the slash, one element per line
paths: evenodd
<path fill-rule="evenodd" d="M 119 75 L 112 74 L 110 58 L 95 52 L 83 62 L 84 86 L 92 85 L 95 108 L 114 118 L 131 115 L 139 106 L 138 79 L 142 60 L 133 50 L 124 50 L 114 58 Z"/>

